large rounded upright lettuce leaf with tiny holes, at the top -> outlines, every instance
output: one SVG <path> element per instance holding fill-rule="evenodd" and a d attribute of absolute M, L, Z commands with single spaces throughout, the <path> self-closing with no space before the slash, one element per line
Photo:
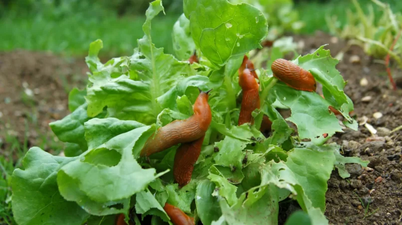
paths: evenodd
<path fill-rule="evenodd" d="M 263 13 L 250 4 L 227 0 L 184 0 L 184 14 L 190 19 L 195 45 L 214 65 L 220 67 L 252 49 L 268 33 Z"/>

